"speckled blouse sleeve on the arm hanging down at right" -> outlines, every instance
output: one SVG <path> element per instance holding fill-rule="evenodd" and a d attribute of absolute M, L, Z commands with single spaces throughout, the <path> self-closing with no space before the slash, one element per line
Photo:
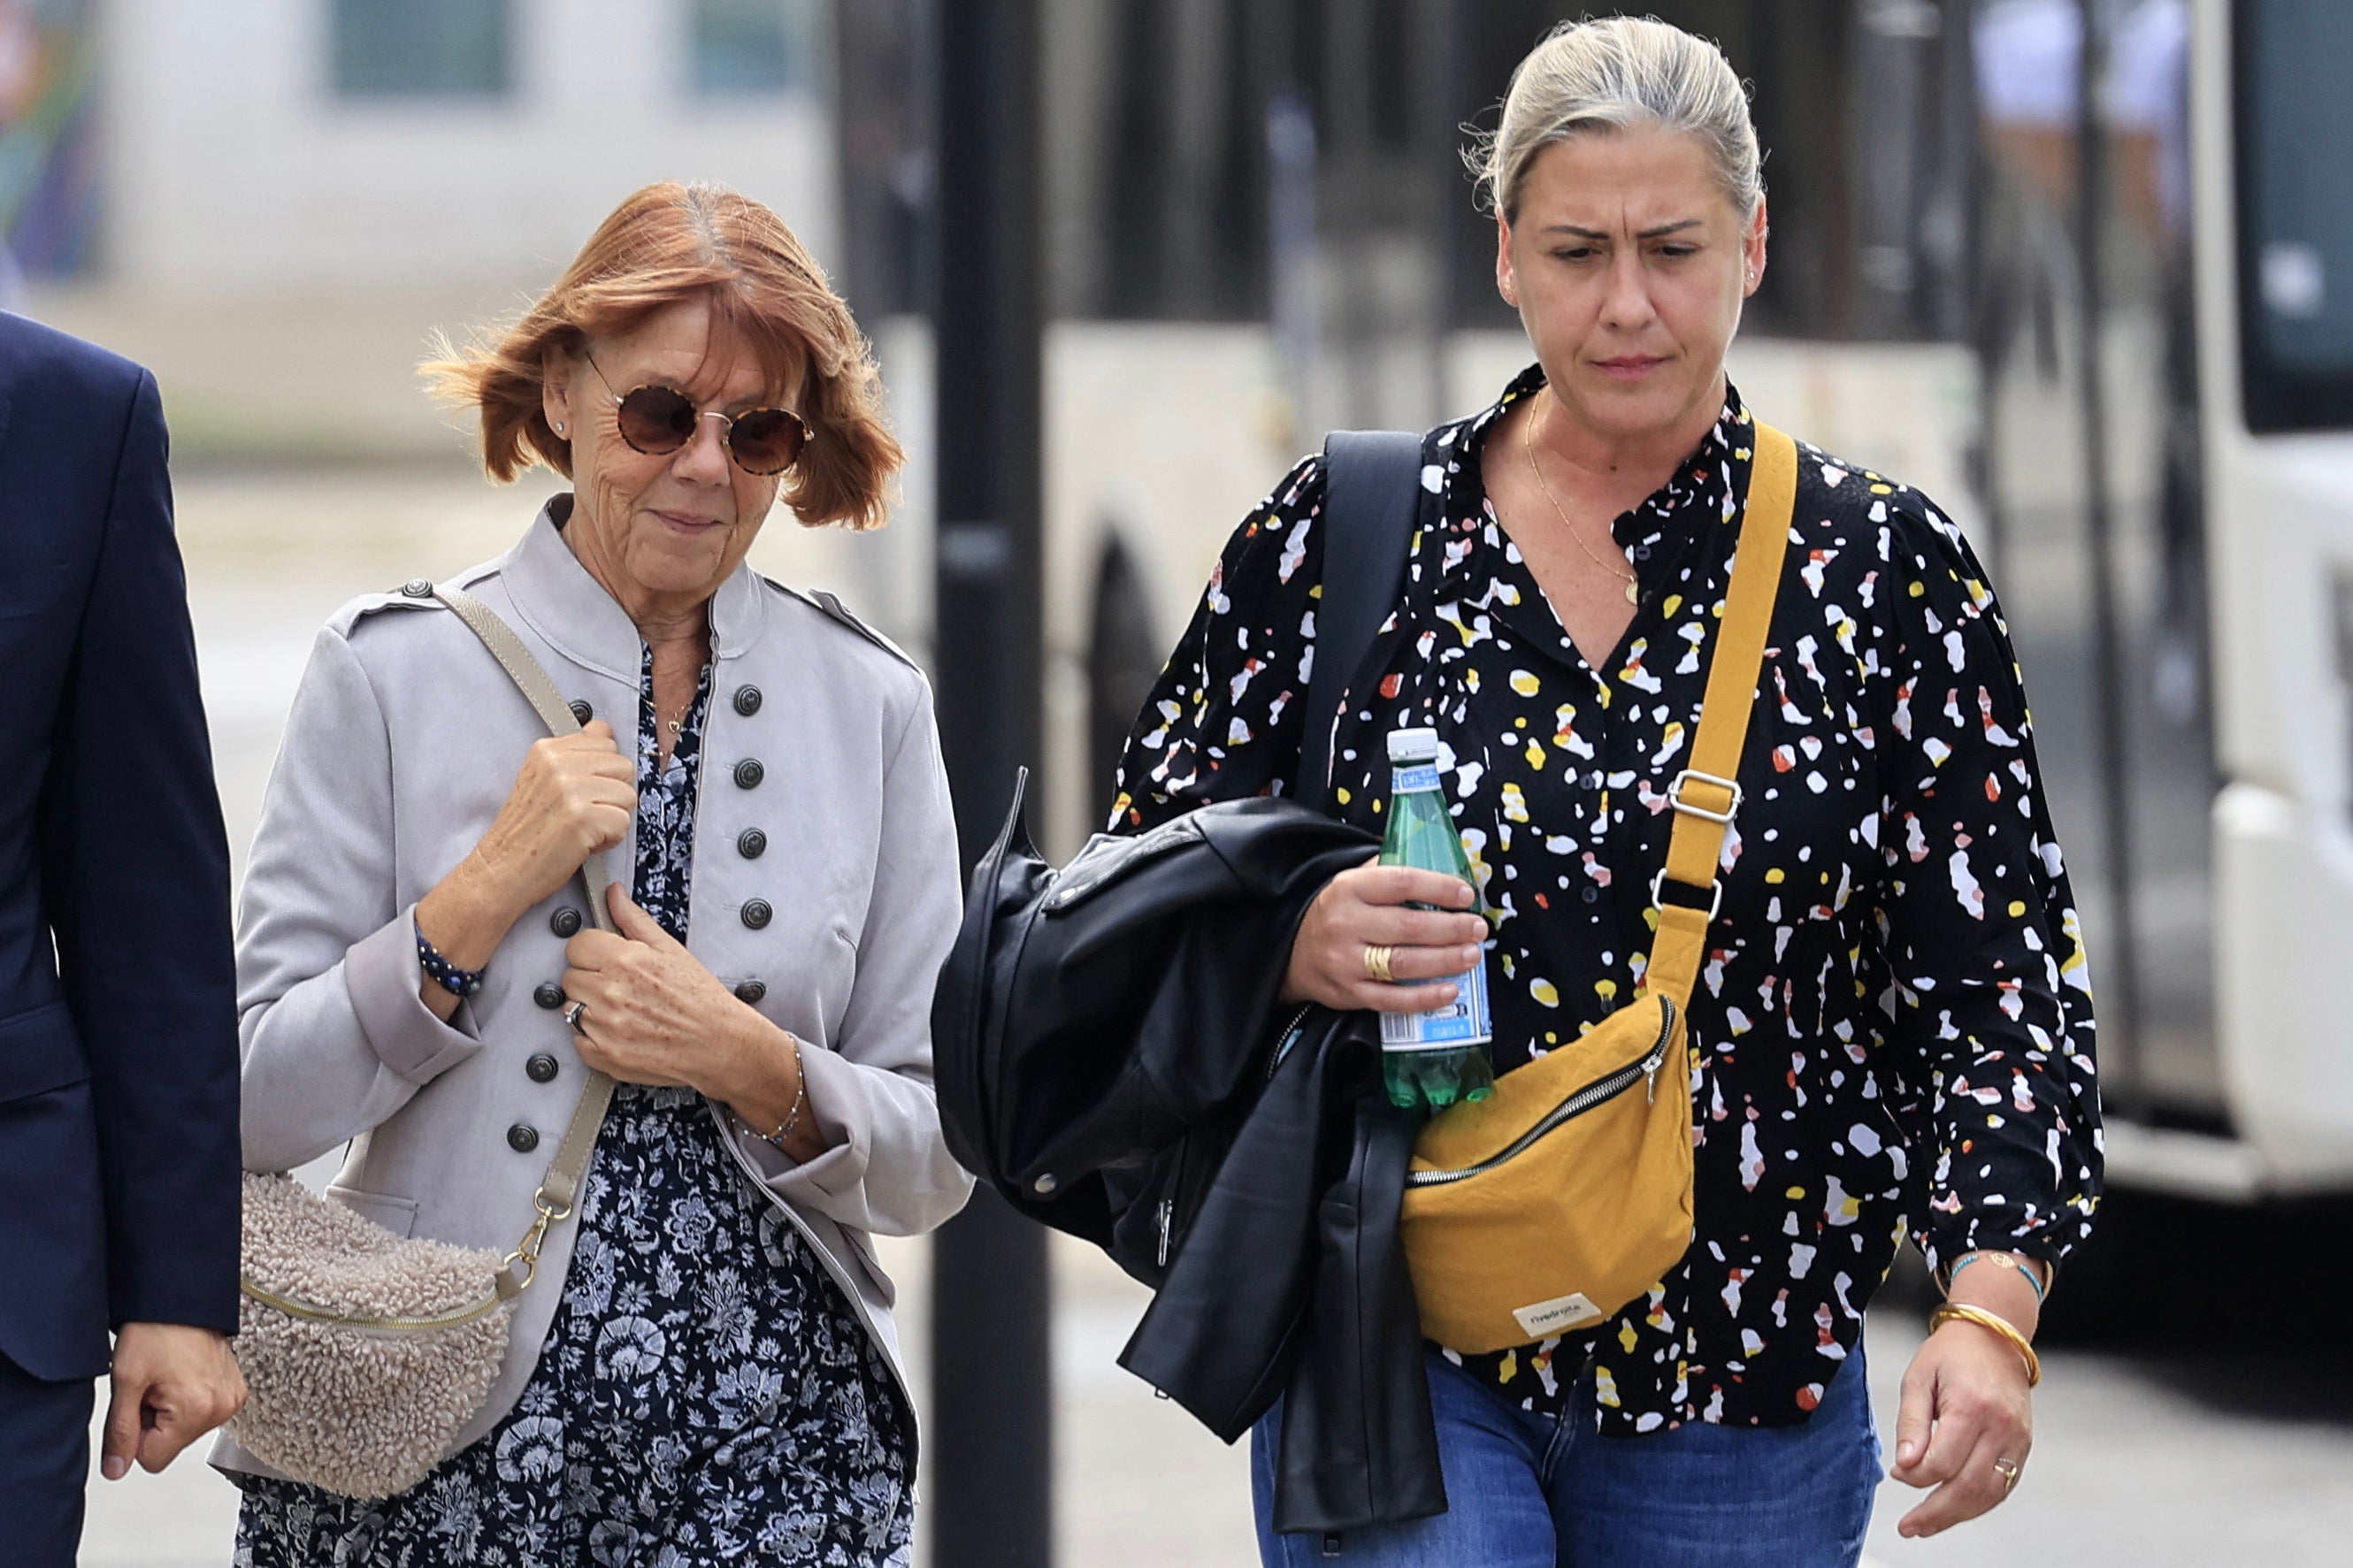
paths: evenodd
<path fill-rule="evenodd" d="M 1915 1237 L 1929 1267 L 2059 1262 L 2101 1180 L 2092 980 L 2019 663 L 1960 531 L 1911 491 L 1873 510 L 1889 1044 L 1934 1145 Z"/>

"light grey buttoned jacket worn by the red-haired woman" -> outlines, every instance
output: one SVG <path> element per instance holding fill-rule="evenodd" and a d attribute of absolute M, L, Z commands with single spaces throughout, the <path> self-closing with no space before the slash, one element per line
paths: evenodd
<path fill-rule="evenodd" d="M 567 503 L 456 583 L 631 745 L 642 644 L 555 529 Z M 894 1291 L 868 1234 L 929 1229 L 972 1190 L 932 1095 L 932 983 L 960 900 L 929 684 L 847 614 L 748 567 L 713 597 L 711 642 L 687 947 L 800 1037 L 809 1112 L 831 1147 L 795 1166 L 713 1119 L 904 1380 Z M 249 1171 L 348 1143 L 329 1192 L 367 1218 L 501 1253 L 522 1237 L 581 1091 L 572 1030 L 548 1006 L 555 994 L 539 994 L 565 971 L 560 931 L 576 929 L 581 884 L 515 924 L 452 1023 L 416 994 L 409 922 L 541 736 L 489 651 L 431 597 L 369 595 L 318 635 L 238 931 Z M 635 842 L 609 865 L 626 884 Z M 527 1070 L 534 1056 L 555 1058 L 553 1079 Z M 454 1448 L 529 1382 L 574 1229 L 551 1232 L 506 1368 Z M 271 1474 L 226 1439 L 212 1458 Z"/>

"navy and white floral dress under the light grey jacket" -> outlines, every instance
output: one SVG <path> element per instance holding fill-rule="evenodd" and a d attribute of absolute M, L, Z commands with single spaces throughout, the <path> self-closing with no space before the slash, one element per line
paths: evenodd
<path fill-rule="evenodd" d="M 685 940 L 711 668 L 668 766 L 654 656 L 638 722 L 635 898 Z M 235 1568 L 901 1568 L 911 1410 L 701 1095 L 621 1084 L 565 1298 L 499 1427 L 398 1497 L 240 1476 Z"/>

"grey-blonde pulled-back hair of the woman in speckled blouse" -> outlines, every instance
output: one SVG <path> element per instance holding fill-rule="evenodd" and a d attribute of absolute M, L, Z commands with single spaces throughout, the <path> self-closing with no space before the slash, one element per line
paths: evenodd
<path fill-rule="evenodd" d="M 1518 214 L 1537 155 L 1579 132 L 1657 125 L 1699 136 L 1746 219 L 1765 197 L 1748 92 L 1722 49 L 1652 16 L 1562 21 L 1511 73 L 1504 120 L 1464 162 L 1487 207 Z"/>

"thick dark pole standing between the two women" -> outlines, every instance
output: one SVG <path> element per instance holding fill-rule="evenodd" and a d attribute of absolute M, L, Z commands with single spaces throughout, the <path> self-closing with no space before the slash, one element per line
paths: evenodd
<path fill-rule="evenodd" d="M 1038 0 L 951 0 L 939 45 L 936 693 L 962 863 L 1040 750 Z M 1045 1232 L 986 1187 L 932 1248 L 936 1568 L 1052 1563 Z"/>

